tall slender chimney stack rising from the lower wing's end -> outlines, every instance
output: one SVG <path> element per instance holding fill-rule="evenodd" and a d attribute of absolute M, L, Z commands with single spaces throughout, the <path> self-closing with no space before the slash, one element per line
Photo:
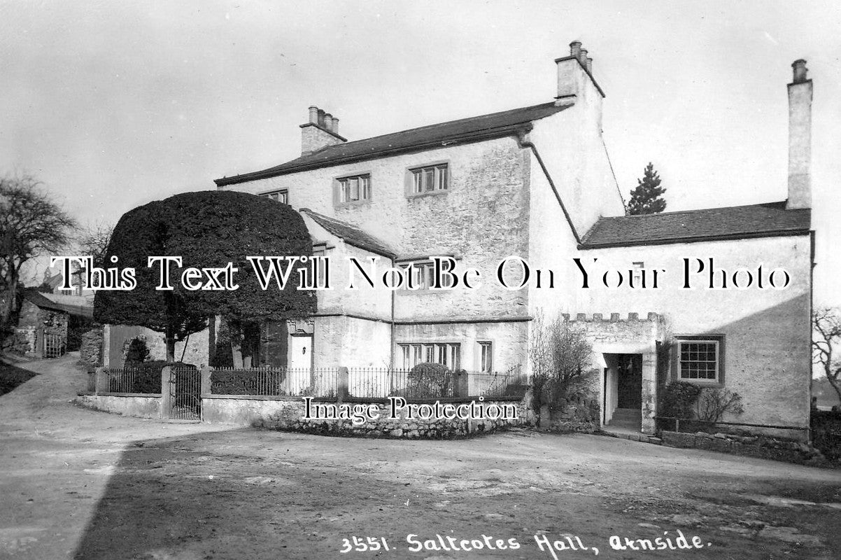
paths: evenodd
<path fill-rule="evenodd" d="M 789 92 L 789 181 L 786 209 L 812 208 L 812 80 L 806 61 L 791 64 Z"/>

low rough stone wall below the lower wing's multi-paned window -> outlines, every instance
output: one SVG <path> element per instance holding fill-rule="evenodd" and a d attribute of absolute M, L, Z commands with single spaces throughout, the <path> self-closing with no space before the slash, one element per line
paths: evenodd
<path fill-rule="evenodd" d="M 703 431 L 694 434 L 662 431 L 660 437 L 663 439 L 663 445 L 671 447 L 706 449 L 813 466 L 823 466 L 827 463 L 821 452 L 801 441 L 782 440 L 768 436 L 708 434 Z"/>

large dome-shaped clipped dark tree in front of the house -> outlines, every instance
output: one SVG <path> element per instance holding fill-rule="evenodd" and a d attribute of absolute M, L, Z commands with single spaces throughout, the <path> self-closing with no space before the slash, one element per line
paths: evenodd
<path fill-rule="evenodd" d="M 175 343 L 204 330 L 209 318 L 225 317 L 235 329 L 262 320 L 299 319 L 315 313 L 315 293 L 298 290 L 293 274 L 283 291 L 263 291 L 246 256 L 311 256 L 312 241 L 300 214 L 286 204 L 230 191 L 182 193 L 145 204 L 123 215 L 108 244 L 108 258 L 135 267 L 137 287 L 98 291 L 94 318 L 102 323 L 142 325 L 164 334 L 167 361 Z M 156 290 L 160 265 L 150 256 L 181 256 L 172 267 L 172 290 Z M 190 291 L 181 285 L 187 267 L 238 269 L 236 290 Z"/>

